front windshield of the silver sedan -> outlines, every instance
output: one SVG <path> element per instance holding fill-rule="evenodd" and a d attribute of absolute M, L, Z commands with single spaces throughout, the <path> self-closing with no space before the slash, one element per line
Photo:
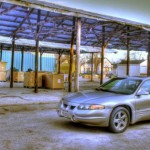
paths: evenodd
<path fill-rule="evenodd" d="M 118 94 L 132 94 L 141 81 L 140 79 L 116 78 L 103 84 L 99 89 Z"/>

